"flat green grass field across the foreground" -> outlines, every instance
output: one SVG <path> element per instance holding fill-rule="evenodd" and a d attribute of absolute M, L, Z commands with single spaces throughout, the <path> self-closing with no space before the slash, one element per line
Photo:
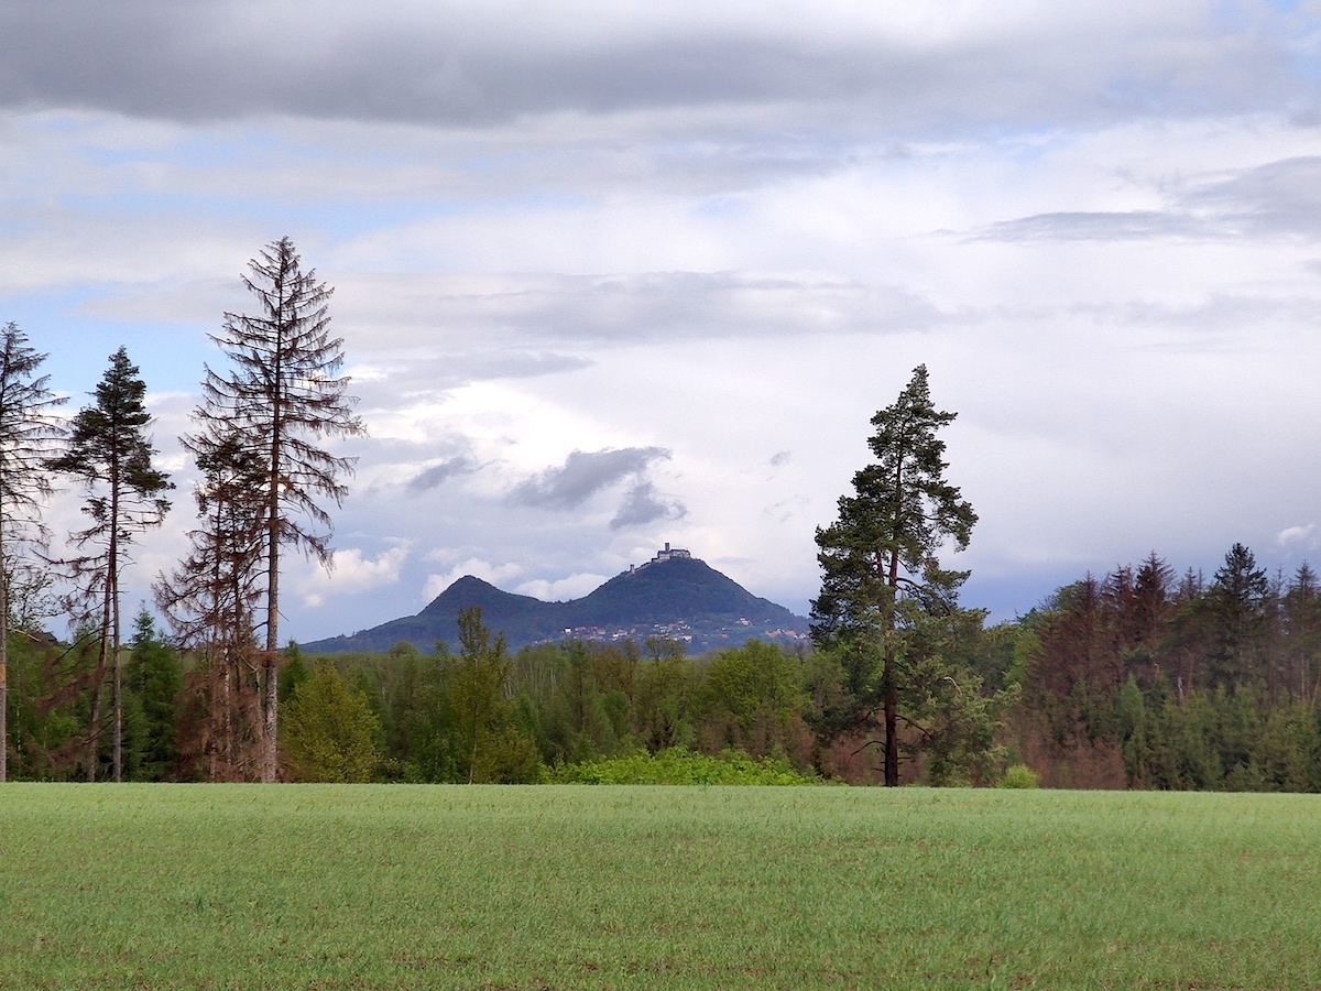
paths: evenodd
<path fill-rule="evenodd" d="M 1321 798 L 0 786 L 0 988 L 1321 987 Z"/>

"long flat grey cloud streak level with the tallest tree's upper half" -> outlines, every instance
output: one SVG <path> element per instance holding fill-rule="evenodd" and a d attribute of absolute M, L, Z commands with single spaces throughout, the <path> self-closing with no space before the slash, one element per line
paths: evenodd
<path fill-rule="evenodd" d="M 436 230 L 444 254 L 461 235 Z M 402 239 L 412 237 L 417 254 L 437 250 L 429 231 Z M 391 363 L 404 387 L 421 377 L 435 385 L 588 366 L 555 350 L 561 348 L 885 333 L 950 321 L 930 300 L 894 285 L 752 272 L 350 275 L 339 289 L 337 320 L 355 328 L 361 346 L 410 349 L 407 361 Z M 417 351 L 420 336 L 432 342 L 429 354 Z"/>

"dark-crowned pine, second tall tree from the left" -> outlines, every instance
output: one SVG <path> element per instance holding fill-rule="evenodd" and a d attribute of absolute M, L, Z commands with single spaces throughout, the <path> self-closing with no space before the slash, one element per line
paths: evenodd
<path fill-rule="evenodd" d="M 123 777 L 123 663 L 120 658 L 119 575 L 128 562 L 133 535 L 157 527 L 169 509 L 164 493 L 169 476 L 152 466 L 156 451 L 147 436 L 152 418 L 145 406 L 147 385 L 120 348 L 92 394 L 95 403 L 74 418 L 69 447 L 48 462 L 70 474 L 87 493 L 83 513 L 91 526 L 70 534 L 90 554 L 67 562 L 79 580 L 85 601 L 99 608 L 99 646 L 92 674 L 92 711 L 87 739 L 87 780 L 96 780 L 96 748 L 106 671 L 114 667 L 114 777 Z M 91 612 L 91 609 L 89 610 Z"/>

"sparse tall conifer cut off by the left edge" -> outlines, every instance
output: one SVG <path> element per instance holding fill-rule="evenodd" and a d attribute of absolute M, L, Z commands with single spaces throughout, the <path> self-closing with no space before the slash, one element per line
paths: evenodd
<path fill-rule="evenodd" d="M 9 593 L 22 567 L 13 547 L 45 536 L 45 461 L 63 436 L 54 410 L 65 400 L 50 394 L 49 375 L 36 375 L 46 357 L 28 345 L 17 324 L 0 328 L 0 781 L 9 777 Z"/>

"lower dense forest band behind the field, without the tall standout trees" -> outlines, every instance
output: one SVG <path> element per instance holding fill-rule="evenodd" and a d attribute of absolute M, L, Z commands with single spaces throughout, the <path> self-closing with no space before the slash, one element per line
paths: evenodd
<path fill-rule="evenodd" d="M 993 785 L 1026 764 L 1063 788 L 1321 790 L 1321 583 L 1269 576 L 1235 546 L 1210 577 L 1155 554 L 1082 580 L 1015 622 L 955 609 L 919 698 L 901 702 L 901 784 Z M 929 637 L 937 636 L 927 632 Z M 124 774 L 243 780 L 205 658 L 141 613 L 127 647 Z M 85 777 L 91 646 L 16 636 L 11 770 Z M 280 671 L 293 781 L 534 782 L 556 768 L 675 748 L 737 751 L 855 784 L 884 780 L 880 737 L 838 715 L 872 686 L 828 647 L 761 641 L 565 641 L 507 651 L 478 610 L 454 650 L 304 657 Z M 223 723 L 221 723 L 223 724 Z M 234 725 L 240 725 L 234 720 Z M 108 741 L 98 757 L 108 765 Z"/>

